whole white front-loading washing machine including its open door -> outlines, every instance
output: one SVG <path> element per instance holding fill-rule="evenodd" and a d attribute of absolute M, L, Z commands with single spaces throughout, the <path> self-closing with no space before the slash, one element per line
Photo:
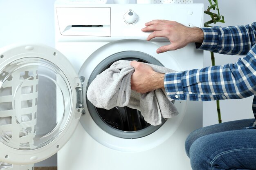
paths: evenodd
<path fill-rule="evenodd" d="M 179 115 L 151 126 L 138 110 L 94 107 L 93 79 L 118 60 L 184 71 L 202 68 L 189 44 L 157 54 L 150 20 L 202 26 L 203 4 L 88 4 L 56 1 L 55 45 L 0 50 L 0 161 L 31 164 L 58 152 L 58 170 L 189 170 L 186 137 L 202 127 L 202 103 L 173 101 Z"/>

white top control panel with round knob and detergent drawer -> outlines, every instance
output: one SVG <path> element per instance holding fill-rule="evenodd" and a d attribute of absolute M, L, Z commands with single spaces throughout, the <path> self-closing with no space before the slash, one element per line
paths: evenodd
<path fill-rule="evenodd" d="M 146 40 L 151 33 L 141 31 L 146 22 L 172 20 L 189 27 L 201 27 L 204 14 L 203 4 L 72 3 L 57 4 L 55 9 L 56 28 L 59 28 L 56 38 L 60 41 L 114 41 L 131 36 Z M 152 41 L 156 39 L 161 38 Z M 164 38 L 161 40 L 166 41 Z"/>

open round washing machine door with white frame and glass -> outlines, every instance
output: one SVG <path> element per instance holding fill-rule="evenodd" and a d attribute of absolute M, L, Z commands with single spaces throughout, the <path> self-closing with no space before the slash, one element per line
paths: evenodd
<path fill-rule="evenodd" d="M 0 161 L 31 164 L 54 155 L 79 122 L 79 91 L 78 75 L 56 49 L 0 49 Z"/>

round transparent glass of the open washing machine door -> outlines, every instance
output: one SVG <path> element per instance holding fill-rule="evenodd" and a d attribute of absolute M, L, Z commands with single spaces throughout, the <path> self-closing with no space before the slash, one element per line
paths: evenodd
<path fill-rule="evenodd" d="M 20 150 L 52 142 L 67 124 L 72 93 L 64 73 L 27 57 L 0 70 L 0 142 Z"/>

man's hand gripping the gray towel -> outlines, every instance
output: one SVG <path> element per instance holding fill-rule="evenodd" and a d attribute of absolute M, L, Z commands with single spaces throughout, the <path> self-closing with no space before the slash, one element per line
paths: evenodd
<path fill-rule="evenodd" d="M 131 89 L 139 93 L 164 88 L 164 74 L 157 73 L 147 64 L 132 61 L 130 65 L 135 68 L 131 77 Z"/>

